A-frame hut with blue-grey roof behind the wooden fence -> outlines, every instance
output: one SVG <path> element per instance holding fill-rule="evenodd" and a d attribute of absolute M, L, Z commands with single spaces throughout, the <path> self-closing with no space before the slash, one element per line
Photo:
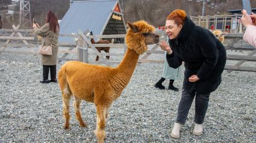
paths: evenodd
<path fill-rule="evenodd" d="M 70 1 L 70 8 L 60 22 L 61 34 L 75 34 L 78 29 L 94 35 L 126 34 L 124 14 L 117 0 Z M 59 37 L 60 42 L 74 43 L 72 37 Z M 124 39 L 115 39 L 123 43 Z"/>

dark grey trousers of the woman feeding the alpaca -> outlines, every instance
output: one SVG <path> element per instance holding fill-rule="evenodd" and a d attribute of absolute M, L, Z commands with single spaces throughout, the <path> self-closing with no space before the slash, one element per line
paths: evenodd
<path fill-rule="evenodd" d="M 210 94 L 196 94 L 182 91 L 181 101 L 179 102 L 178 115 L 176 123 L 185 124 L 187 120 L 188 111 L 190 111 L 191 104 L 196 96 L 196 112 L 194 115 L 194 123 L 202 124 L 208 108 Z"/>

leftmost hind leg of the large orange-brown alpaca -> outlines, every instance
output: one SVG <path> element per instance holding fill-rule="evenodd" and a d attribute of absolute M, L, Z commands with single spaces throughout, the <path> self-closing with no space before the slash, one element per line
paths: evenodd
<path fill-rule="evenodd" d="M 63 100 L 63 115 L 65 117 L 65 129 L 69 129 L 69 102 L 70 102 L 71 94 L 63 93 L 62 94 L 62 100 Z"/>

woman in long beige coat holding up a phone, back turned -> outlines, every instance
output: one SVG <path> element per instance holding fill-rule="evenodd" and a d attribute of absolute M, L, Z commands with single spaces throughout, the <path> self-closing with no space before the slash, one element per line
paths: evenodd
<path fill-rule="evenodd" d="M 42 84 L 49 82 L 57 82 L 56 79 L 56 64 L 58 54 L 58 37 L 59 37 L 59 23 L 58 19 L 52 11 L 48 11 L 46 23 L 41 28 L 37 23 L 33 23 L 34 32 L 43 37 L 42 45 L 52 45 L 53 55 L 42 55 L 43 65 L 43 81 Z M 51 81 L 48 80 L 48 73 L 51 73 Z"/>

